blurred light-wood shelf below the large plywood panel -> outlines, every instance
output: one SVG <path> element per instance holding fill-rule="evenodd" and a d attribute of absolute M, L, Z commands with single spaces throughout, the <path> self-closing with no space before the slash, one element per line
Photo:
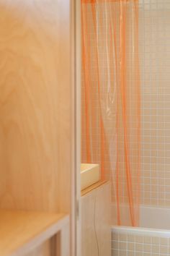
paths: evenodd
<path fill-rule="evenodd" d="M 0 255 L 24 255 L 68 223 L 65 214 L 0 210 Z"/>

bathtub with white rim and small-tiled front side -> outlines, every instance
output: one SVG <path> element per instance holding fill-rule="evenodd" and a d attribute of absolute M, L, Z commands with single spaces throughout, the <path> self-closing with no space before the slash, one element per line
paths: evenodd
<path fill-rule="evenodd" d="M 140 208 L 140 227 L 112 226 L 112 256 L 170 255 L 170 209 Z"/>

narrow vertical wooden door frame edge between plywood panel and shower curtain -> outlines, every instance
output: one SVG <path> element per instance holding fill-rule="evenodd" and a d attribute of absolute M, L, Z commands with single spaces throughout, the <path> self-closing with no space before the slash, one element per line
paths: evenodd
<path fill-rule="evenodd" d="M 71 0 L 71 256 L 81 256 L 81 0 Z"/>

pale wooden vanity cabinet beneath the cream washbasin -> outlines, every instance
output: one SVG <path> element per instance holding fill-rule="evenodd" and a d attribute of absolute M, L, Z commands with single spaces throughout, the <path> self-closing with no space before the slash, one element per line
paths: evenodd
<path fill-rule="evenodd" d="M 111 256 L 110 195 L 109 182 L 95 184 L 82 193 L 82 256 Z"/>

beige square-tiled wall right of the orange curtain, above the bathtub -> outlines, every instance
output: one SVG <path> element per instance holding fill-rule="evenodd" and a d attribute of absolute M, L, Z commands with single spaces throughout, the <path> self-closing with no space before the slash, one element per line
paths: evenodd
<path fill-rule="evenodd" d="M 170 206 L 170 0 L 139 0 L 142 203 Z"/>

